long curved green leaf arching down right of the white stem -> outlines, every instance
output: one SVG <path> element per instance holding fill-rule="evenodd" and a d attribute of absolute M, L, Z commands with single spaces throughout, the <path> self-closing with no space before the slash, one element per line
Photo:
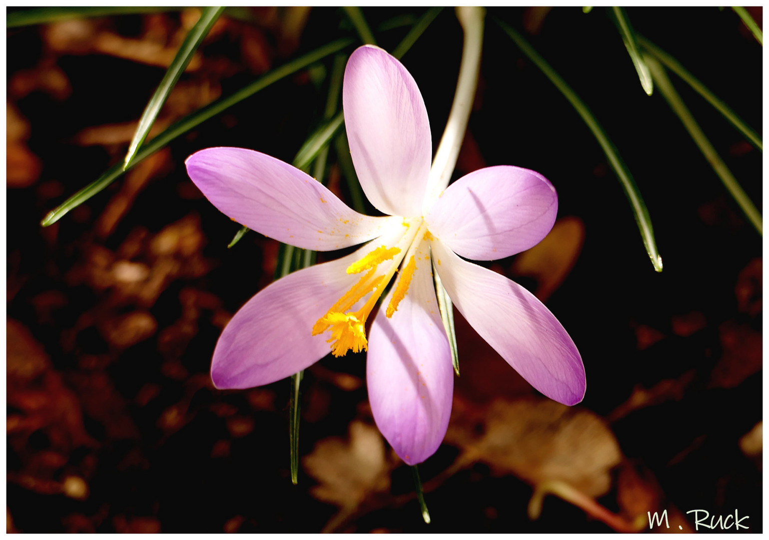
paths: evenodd
<path fill-rule="evenodd" d="M 568 99 L 574 110 L 582 117 L 585 124 L 588 124 L 588 128 L 593 132 L 594 137 L 598 140 L 598 144 L 601 144 L 601 148 L 608 158 L 611 168 L 619 178 L 620 185 L 624 190 L 625 195 L 630 201 L 631 208 L 633 209 L 633 215 L 635 217 L 636 224 L 638 224 L 638 230 L 641 231 L 641 238 L 644 240 L 644 246 L 649 254 L 651 263 L 654 265 L 654 270 L 657 272 L 662 271 L 662 257 L 657 252 L 657 243 L 654 240 L 654 228 L 651 226 L 651 218 L 649 217 L 649 211 L 644 203 L 644 198 L 641 197 L 641 192 L 638 190 L 638 186 L 635 185 L 633 175 L 628 170 L 628 167 L 622 161 L 617 148 L 611 143 L 604 128 L 601 128 L 601 124 L 598 124 L 598 120 L 593 116 L 590 109 L 579 96 L 566 84 L 558 73 L 551 68 L 547 61 L 542 58 L 534 48 L 529 45 L 517 31 L 510 26 L 506 25 L 498 19 L 494 19 L 498 25 L 510 36 L 510 38 L 518 45 L 518 48 L 523 51 L 524 55 L 534 62 L 544 75 L 550 79 L 550 81 L 564 94 L 564 98 Z"/>

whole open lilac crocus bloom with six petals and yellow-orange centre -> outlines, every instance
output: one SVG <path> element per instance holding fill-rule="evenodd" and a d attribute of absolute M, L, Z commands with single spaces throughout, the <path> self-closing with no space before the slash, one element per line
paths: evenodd
<path fill-rule="evenodd" d="M 554 187 L 534 171 L 498 166 L 432 189 L 424 101 L 408 71 L 381 48 L 351 55 L 342 98 L 361 187 L 387 216 L 358 214 L 308 174 L 256 151 L 208 148 L 187 160 L 211 203 L 265 236 L 321 251 L 371 240 L 248 300 L 216 345 L 215 386 L 260 386 L 329 352 L 367 350 L 379 430 L 404 462 L 424 461 L 444 437 L 454 386 L 434 263 L 454 306 L 524 379 L 561 403 L 581 401 L 584 367 L 561 323 L 528 290 L 462 258 L 501 259 L 542 240 L 558 210 Z"/>

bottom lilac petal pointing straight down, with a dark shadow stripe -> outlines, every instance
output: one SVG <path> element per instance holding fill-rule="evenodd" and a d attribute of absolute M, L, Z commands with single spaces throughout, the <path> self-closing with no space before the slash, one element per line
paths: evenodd
<path fill-rule="evenodd" d="M 371 325 L 366 360 L 368 400 L 377 427 L 409 465 L 428 459 L 441 445 L 454 391 L 451 351 L 427 248 L 423 242 L 415 255 L 417 268 L 408 293 L 390 319 L 385 310 L 395 286 L 382 302 Z"/>

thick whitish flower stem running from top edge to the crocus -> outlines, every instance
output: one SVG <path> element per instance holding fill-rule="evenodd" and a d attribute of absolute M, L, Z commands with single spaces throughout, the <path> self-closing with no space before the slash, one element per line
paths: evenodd
<path fill-rule="evenodd" d="M 481 65 L 481 48 L 483 48 L 484 16 L 486 10 L 480 7 L 458 7 L 457 18 L 464 30 L 464 45 L 462 47 L 462 62 L 459 66 L 457 91 L 454 102 L 448 114 L 446 129 L 435 152 L 428 187 L 424 193 L 425 203 L 432 201 L 441 191 L 446 189 L 451 180 L 451 173 L 457 164 L 459 148 L 468 128 L 470 111 L 478 86 L 478 68 Z"/>

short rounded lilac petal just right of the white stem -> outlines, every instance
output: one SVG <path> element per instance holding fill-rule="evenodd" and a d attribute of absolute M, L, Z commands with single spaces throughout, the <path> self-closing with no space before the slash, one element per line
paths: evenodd
<path fill-rule="evenodd" d="M 558 195 L 534 171 L 501 165 L 461 177 L 425 219 L 434 237 L 462 257 L 510 257 L 538 244 L 555 223 Z"/>

